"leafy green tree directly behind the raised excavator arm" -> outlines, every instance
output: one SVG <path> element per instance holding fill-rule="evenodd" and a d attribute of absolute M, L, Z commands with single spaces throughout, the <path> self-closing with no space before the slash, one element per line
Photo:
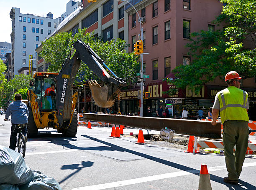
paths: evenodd
<path fill-rule="evenodd" d="M 135 82 L 136 72 L 139 71 L 140 63 L 137 62 L 138 57 L 133 53 L 126 53 L 125 48 L 128 45 L 120 39 L 112 39 L 109 42 L 102 42 L 86 33 L 86 29 L 81 30 L 73 36 L 72 32 L 61 32 L 42 42 L 43 48 L 40 56 L 45 62 L 50 62 L 49 72 L 59 72 L 65 58 L 71 52 L 71 46 L 77 40 L 89 43 L 91 48 L 105 61 L 105 64 L 115 72 L 118 77 L 123 78 L 128 84 Z M 110 74 L 111 75 L 111 74 Z M 84 62 L 81 62 L 77 73 L 77 80 L 84 82 L 87 79 L 95 79 L 95 76 Z"/>

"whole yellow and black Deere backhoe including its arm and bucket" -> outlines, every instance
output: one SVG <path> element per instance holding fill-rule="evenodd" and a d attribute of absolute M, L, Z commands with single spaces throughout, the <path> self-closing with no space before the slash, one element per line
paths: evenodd
<path fill-rule="evenodd" d="M 126 83 L 115 75 L 104 61 L 82 41 L 74 42 L 74 48 L 65 60 L 59 73 L 36 72 L 31 81 L 32 89 L 28 90 L 28 137 L 36 136 L 38 129 L 54 128 L 65 136 L 77 134 L 77 112 L 75 105 L 78 91 L 72 94 L 72 87 L 81 60 L 102 80 L 103 86 L 96 81 L 88 80 L 92 97 L 99 107 L 111 107 L 118 91 Z M 74 53 L 71 58 L 72 52 Z M 115 76 L 110 77 L 105 67 Z M 45 94 L 48 87 L 54 84 L 56 96 Z"/>

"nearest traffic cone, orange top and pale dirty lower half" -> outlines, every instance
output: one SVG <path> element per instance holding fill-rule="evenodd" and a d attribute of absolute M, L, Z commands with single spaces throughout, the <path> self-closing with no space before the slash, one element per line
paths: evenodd
<path fill-rule="evenodd" d="M 201 165 L 198 190 L 212 190 L 210 174 L 206 164 Z"/>

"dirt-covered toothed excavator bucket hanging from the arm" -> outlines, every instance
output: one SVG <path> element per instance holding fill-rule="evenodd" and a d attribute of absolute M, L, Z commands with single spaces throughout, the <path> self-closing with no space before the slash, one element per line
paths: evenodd
<path fill-rule="evenodd" d="M 88 84 L 92 91 L 93 100 L 99 107 L 113 106 L 115 103 L 115 98 L 118 95 L 117 92 L 122 87 L 110 83 L 102 87 L 97 83 L 96 80 L 88 80 Z"/>

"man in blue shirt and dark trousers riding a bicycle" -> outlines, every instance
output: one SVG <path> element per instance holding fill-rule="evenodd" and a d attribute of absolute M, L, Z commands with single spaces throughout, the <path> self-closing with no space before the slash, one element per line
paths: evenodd
<path fill-rule="evenodd" d="M 12 116 L 12 128 L 11 128 L 11 135 L 10 135 L 10 149 L 15 150 L 16 148 L 16 136 L 18 133 L 18 126 L 17 124 L 27 124 L 28 123 L 28 107 L 27 105 L 21 101 L 21 94 L 15 94 L 14 102 L 10 103 L 9 107 L 5 112 L 5 121 L 8 120 L 9 116 Z M 25 139 L 27 142 L 27 125 L 22 128 L 22 134 L 25 135 Z"/>

